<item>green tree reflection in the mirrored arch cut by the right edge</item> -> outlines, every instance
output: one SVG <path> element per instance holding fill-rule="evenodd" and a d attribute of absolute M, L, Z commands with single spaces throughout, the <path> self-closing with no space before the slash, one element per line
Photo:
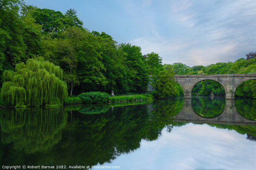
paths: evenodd
<path fill-rule="evenodd" d="M 255 99 L 235 99 L 236 111 L 244 118 L 256 119 L 256 100 Z"/>

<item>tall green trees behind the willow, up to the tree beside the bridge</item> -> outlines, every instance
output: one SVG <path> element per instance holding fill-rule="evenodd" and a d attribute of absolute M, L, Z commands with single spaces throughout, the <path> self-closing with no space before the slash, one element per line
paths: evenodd
<path fill-rule="evenodd" d="M 147 62 L 138 46 L 90 32 L 74 9 L 62 14 L 22 0 L 3 0 L 0 7 L 0 74 L 38 55 L 61 67 L 70 96 L 147 91 L 148 64 L 154 61 Z"/>

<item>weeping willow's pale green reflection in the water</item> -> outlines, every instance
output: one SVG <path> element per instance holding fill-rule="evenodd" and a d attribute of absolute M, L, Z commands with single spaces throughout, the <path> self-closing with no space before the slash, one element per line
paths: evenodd
<path fill-rule="evenodd" d="M 0 112 L 0 147 L 8 148 L 1 159 L 3 162 L 20 162 L 22 153 L 49 150 L 61 140 L 61 129 L 67 122 L 63 108 L 1 109 Z M 7 159 L 9 156 L 17 158 Z"/>

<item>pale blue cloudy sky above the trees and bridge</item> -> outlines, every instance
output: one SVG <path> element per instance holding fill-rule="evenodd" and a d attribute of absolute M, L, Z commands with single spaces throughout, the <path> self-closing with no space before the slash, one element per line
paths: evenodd
<path fill-rule="evenodd" d="M 235 62 L 256 51 L 256 0 L 24 0 L 70 8 L 90 31 L 188 66 Z"/>

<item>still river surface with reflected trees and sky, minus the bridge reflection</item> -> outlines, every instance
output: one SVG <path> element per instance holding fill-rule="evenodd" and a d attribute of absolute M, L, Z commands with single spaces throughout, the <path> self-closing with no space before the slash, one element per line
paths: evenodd
<path fill-rule="evenodd" d="M 1 167 L 256 169 L 255 124 L 204 124 L 191 123 L 189 119 L 177 122 L 176 117 L 184 109 L 183 103 L 183 98 L 175 98 L 130 106 L 121 103 L 1 109 Z M 211 119 L 224 114 L 226 101 L 224 98 L 194 97 L 190 105 L 195 112 L 191 114 Z M 234 105 L 244 120 L 256 118 L 255 100 L 236 99 Z"/>

